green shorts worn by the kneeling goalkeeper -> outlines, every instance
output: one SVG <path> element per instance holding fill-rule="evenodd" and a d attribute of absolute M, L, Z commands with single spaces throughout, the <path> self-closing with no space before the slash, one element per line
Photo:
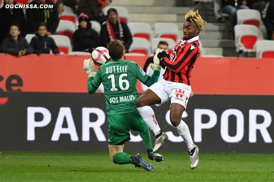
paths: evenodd
<path fill-rule="evenodd" d="M 108 144 L 116 145 L 129 141 L 129 130 L 145 132 L 148 127 L 138 111 L 108 116 Z"/>

